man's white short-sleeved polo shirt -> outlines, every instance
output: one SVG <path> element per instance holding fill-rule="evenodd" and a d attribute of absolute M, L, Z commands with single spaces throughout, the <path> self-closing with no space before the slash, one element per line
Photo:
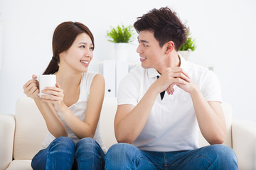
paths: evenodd
<path fill-rule="evenodd" d="M 220 101 L 220 84 L 212 71 L 187 62 L 181 57 L 181 68 L 188 73 L 191 81 L 197 84 L 206 101 Z M 142 99 L 149 86 L 161 76 L 156 69 L 141 66 L 131 69 L 119 84 L 118 105 L 134 106 Z M 144 129 L 132 143 L 141 150 L 171 152 L 198 148 L 198 123 L 190 94 L 174 86 L 174 94 L 165 93 L 151 109 Z"/>

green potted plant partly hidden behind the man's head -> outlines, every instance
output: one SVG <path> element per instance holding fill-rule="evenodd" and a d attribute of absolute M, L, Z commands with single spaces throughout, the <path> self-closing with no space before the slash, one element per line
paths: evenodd
<path fill-rule="evenodd" d="M 184 59 L 188 60 L 190 52 L 194 50 L 196 50 L 196 41 L 193 38 L 188 37 L 186 42 L 178 49 L 178 53 L 180 53 Z"/>

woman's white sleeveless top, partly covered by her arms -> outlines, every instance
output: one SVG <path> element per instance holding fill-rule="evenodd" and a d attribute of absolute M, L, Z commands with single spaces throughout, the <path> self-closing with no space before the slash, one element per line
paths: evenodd
<path fill-rule="evenodd" d="M 80 96 L 78 98 L 78 102 L 74 103 L 72 106 L 69 107 L 70 111 L 82 121 L 85 120 L 85 111 L 87 108 L 87 101 L 90 94 L 90 85 L 92 84 L 92 79 L 95 77 L 96 74 L 97 73 L 95 72 L 82 73 L 82 79 L 80 82 Z M 70 128 L 63 121 L 59 113 L 58 113 L 58 116 L 60 120 L 62 120 L 63 124 L 65 125 L 65 129 L 68 131 L 68 137 L 70 137 L 76 144 L 80 139 L 73 133 L 72 130 L 70 130 Z M 100 120 L 97 124 L 95 136 L 93 137 L 93 139 L 97 141 L 97 143 L 102 148 L 103 152 L 106 153 L 107 149 L 104 145 L 102 135 L 100 133 Z M 50 145 L 50 142 L 53 142 L 53 140 L 55 140 L 55 137 L 51 135 L 50 132 L 48 132 L 46 139 L 42 143 L 41 149 L 46 149 L 46 147 L 48 147 L 48 145 Z"/>

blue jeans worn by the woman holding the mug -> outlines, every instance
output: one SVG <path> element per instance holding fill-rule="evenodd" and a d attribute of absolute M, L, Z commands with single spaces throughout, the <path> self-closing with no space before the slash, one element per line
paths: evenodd
<path fill-rule="evenodd" d="M 82 138 L 77 145 L 69 137 L 58 137 L 35 155 L 33 169 L 104 169 L 105 154 L 90 137 Z"/>

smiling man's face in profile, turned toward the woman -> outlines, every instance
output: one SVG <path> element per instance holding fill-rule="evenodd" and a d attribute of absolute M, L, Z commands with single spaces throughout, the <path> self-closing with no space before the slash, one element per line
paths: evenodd
<path fill-rule="evenodd" d="M 158 69 L 164 64 L 165 46 L 160 47 L 159 42 L 154 38 L 154 33 L 149 30 L 142 30 L 138 36 L 139 53 L 142 67 Z"/>

